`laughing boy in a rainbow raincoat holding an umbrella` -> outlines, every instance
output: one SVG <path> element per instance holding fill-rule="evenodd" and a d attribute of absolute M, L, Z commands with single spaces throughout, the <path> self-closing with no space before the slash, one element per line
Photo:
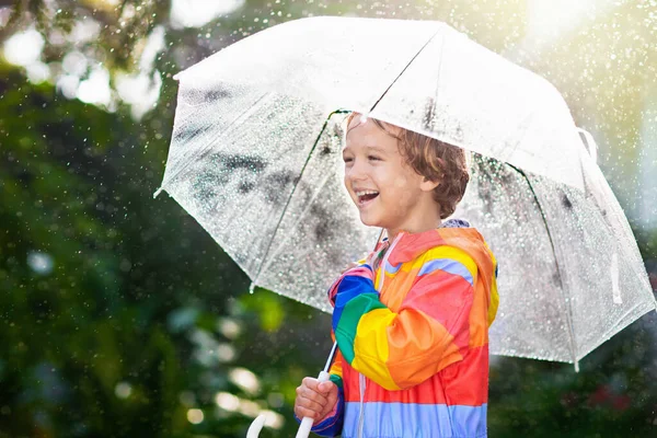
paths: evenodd
<path fill-rule="evenodd" d="M 353 113 L 343 159 L 360 220 L 388 240 L 330 288 L 339 353 L 331 381 L 303 379 L 295 414 L 328 437 L 485 437 L 497 264 L 474 228 L 441 221 L 465 151 Z"/>

